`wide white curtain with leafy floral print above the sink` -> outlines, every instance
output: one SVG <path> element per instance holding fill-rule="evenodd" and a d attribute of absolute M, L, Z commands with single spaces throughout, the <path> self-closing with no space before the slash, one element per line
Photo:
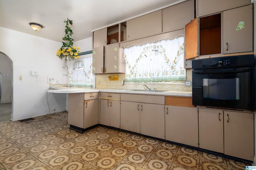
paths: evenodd
<path fill-rule="evenodd" d="M 126 82 L 186 80 L 184 36 L 124 48 Z"/>

